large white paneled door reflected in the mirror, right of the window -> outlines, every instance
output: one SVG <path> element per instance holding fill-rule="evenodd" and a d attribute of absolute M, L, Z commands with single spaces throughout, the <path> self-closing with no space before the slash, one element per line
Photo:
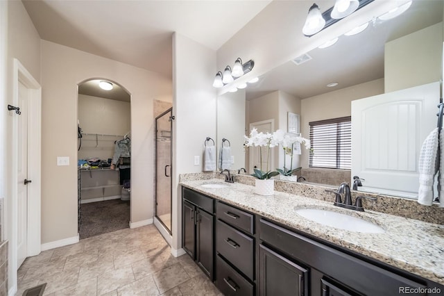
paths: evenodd
<path fill-rule="evenodd" d="M 352 176 L 365 179 L 359 190 L 418 196 L 418 158 L 438 103 L 438 82 L 352 101 Z"/>

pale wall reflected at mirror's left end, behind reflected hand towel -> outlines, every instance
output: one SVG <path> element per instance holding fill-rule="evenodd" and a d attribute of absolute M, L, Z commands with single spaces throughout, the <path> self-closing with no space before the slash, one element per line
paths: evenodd
<path fill-rule="evenodd" d="M 245 90 L 226 92 L 217 97 L 217 155 L 219 156 L 222 146 L 222 138 L 228 139 L 231 143 L 231 156 L 234 156 L 231 170 L 245 167 L 245 103 Z M 224 146 L 226 145 L 225 142 Z"/>

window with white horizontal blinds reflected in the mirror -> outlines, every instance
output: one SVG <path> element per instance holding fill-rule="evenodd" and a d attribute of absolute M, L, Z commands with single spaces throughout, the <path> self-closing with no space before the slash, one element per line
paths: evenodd
<path fill-rule="evenodd" d="M 352 167 L 352 117 L 309 122 L 309 167 L 350 170 Z"/>

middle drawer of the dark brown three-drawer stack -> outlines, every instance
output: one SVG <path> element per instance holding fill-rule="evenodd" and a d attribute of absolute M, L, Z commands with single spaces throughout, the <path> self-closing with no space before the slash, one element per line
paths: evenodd
<path fill-rule="evenodd" d="M 217 220 L 217 252 L 251 280 L 254 274 L 255 240 Z"/>

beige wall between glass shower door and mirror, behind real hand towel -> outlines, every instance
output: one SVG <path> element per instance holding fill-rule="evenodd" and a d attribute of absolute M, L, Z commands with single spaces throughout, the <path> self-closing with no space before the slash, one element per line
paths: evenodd
<path fill-rule="evenodd" d="M 179 174 L 202 172 L 205 138 L 216 139 L 215 73 L 216 51 L 178 33 L 173 35 L 173 252 L 182 248 Z M 194 165 L 194 156 L 200 156 L 200 165 Z"/>

